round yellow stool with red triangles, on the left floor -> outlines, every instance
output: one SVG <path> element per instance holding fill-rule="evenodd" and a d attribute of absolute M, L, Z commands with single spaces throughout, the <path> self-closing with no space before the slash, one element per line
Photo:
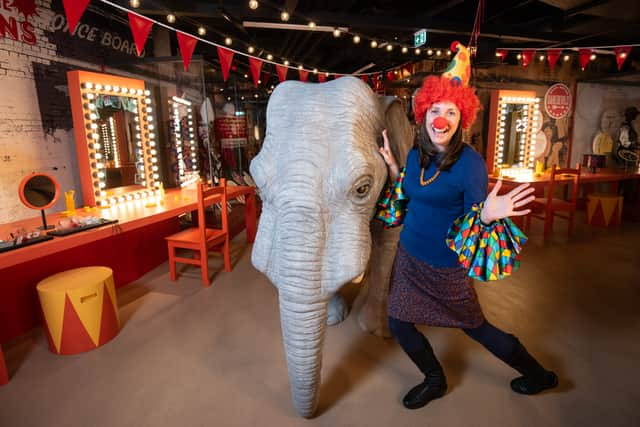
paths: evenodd
<path fill-rule="evenodd" d="M 118 334 L 118 302 L 110 268 L 63 271 L 42 280 L 36 288 L 53 353 L 93 350 Z"/>

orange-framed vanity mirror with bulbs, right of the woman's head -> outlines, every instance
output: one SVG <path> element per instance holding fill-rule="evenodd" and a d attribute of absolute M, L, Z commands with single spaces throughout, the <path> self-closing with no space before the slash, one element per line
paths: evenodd
<path fill-rule="evenodd" d="M 534 173 L 540 98 L 533 91 L 491 93 L 487 169 L 494 176 L 530 177 Z"/>

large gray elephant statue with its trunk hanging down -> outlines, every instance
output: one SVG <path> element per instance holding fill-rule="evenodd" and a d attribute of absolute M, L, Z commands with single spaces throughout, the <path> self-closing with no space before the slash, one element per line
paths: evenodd
<path fill-rule="evenodd" d="M 264 144 L 251 162 L 263 202 L 252 263 L 278 289 L 292 398 L 302 417 L 318 405 L 330 301 L 367 270 L 368 285 L 354 304 L 358 320 L 388 335 L 399 230 L 372 220 L 388 175 L 378 153 L 383 128 L 403 162 L 413 136 L 399 101 L 376 96 L 354 77 L 286 81 L 271 95 Z"/>

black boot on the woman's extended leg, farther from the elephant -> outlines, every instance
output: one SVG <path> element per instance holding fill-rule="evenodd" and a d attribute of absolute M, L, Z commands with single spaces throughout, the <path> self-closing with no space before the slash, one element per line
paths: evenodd
<path fill-rule="evenodd" d="M 516 393 L 538 394 L 558 385 L 558 376 L 555 372 L 544 369 L 520 342 L 514 350 L 509 365 L 522 374 L 521 377 L 511 381 L 511 389 Z"/>

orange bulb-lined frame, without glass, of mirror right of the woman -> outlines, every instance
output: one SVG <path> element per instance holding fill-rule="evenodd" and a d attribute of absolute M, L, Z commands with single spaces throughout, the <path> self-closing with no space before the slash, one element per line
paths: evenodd
<path fill-rule="evenodd" d="M 521 126 L 520 141 L 509 141 L 506 129 L 507 109 L 511 104 L 522 105 L 523 120 Z M 536 144 L 536 131 L 539 125 L 540 98 L 534 91 L 522 90 L 495 90 L 491 93 L 491 107 L 489 115 L 489 135 L 487 144 L 487 169 L 489 173 L 496 175 L 503 164 L 503 156 L 507 144 L 518 144 L 517 162 L 519 167 L 510 169 L 522 169 L 524 171 L 534 169 L 534 156 Z M 502 171 L 504 172 L 504 171 Z"/>

